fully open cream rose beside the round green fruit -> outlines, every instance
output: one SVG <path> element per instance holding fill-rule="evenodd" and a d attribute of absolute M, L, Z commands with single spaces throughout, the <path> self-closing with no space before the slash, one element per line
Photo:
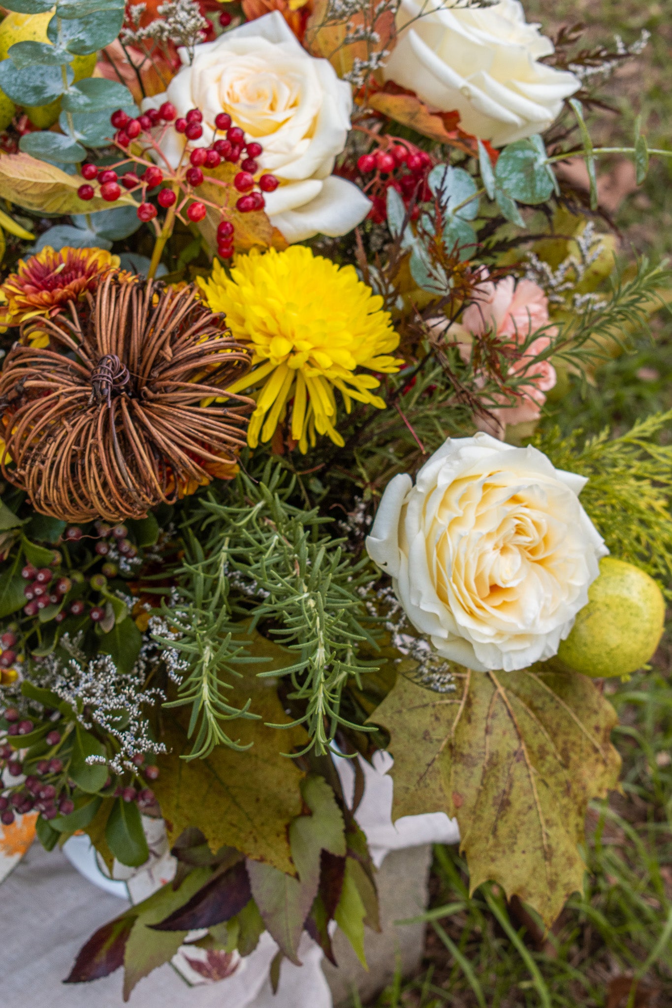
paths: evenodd
<path fill-rule="evenodd" d="M 413 623 L 446 658 L 513 671 L 551 658 L 609 552 L 585 479 L 487 433 L 448 438 L 386 487 L 367 538 Z"/>

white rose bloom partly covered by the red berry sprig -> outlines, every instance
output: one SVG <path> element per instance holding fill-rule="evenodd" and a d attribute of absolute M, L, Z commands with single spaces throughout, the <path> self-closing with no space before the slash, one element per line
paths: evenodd
<path fill-rule="evenodd" d="M 178 51 L 187 64 L 186 51 Z M 262 145 L 260 169 L 280 181 L 274 193 L 264 194 L 266 213 L 288 242 L 317 233 L 345 235 L 369 213 L 371 203 L 361 190 L 331 174 L 346 146 L 352 89 L 326 59 L 308 55 L 277 11 L 196 45 L 191 65 L 182 67 L 164 94 L 145 99 L 143 109 L 166 101 L 178 116 L 200 109 L 204 135 L 196 146 L 213 142 L 220 112 L 245 130 L 246 140 Z M 163 153 L 173 167 L 184 143 L 183 135 L 167 131 Z"/>

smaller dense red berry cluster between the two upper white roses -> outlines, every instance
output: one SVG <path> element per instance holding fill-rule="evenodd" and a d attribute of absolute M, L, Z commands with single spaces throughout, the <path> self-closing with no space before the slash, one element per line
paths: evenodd
<path fill-rule="evenodd" d="M 362 154 L 358 159 L 357 167 L 362 175 L 375 172 L 364 186 L 364 192 L 373 203 L 369 219 L 376 224 L 387 220 L 386 197 L 390 186 L 399 193 L 406 207 L 413 203 L 411 220 L 419 216 L 418 204 L 431 200 L 427 171 L 433 164 L 432 159 L 426 151 L 407 141 L 404 144 L 391 143 L 370 154 Z"/>

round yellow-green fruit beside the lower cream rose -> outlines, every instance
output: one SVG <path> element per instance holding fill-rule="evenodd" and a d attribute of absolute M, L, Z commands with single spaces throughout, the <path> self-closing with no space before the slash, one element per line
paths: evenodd
<path fill-rule="evenodd" d="M 604 556 L 588 590 L 588 604 L 557 656 L 583 675 L 628 675 L 652 657 L 664 620 L 665 600 L 653 578 L 632 563 Z"/>

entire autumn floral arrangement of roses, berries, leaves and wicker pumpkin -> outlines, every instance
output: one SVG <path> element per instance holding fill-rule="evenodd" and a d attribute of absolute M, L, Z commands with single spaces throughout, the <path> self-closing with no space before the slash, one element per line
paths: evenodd
<path fill-rule="evenodd" d="M 0 822 L 114 873 L 162 818 L 177 865 L 69 982 L 193 931 L 363 956 L 331 757 L 380 749 L 393 817 L 550 924 L 618 786 L 598 680 L 672 592 L 670 417 L 554 419 L 670 286 L 585 122 L 641 46 L 517 0 L 5 8 Z"/>

